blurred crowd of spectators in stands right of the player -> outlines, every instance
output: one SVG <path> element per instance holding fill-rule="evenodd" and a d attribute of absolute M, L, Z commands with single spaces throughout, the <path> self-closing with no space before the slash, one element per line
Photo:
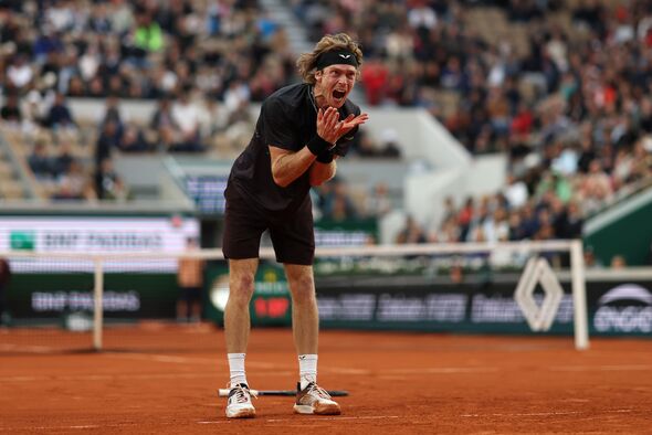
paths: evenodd
<path fill-rule="evenodd" d="M 424 107 L 472 153 L 509 156 L 505 192 L 409 219 L 402 242 L 576 236 L 652 178 L 649 0 L 287 3 L 313 39 L 361 41 L 370 105 Z"/>

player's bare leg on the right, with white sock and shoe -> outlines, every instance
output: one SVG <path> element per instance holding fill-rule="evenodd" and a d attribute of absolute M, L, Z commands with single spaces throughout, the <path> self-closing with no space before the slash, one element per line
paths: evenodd
<path fill-rule="evenodd" d="M 317 386 L 319 312 L 313 266 L 285 264 L 285 275 L 292 294 L 292 331 L 299 365 L 294 411 L 299 414 L 339 414 L 339 405 Z"/>

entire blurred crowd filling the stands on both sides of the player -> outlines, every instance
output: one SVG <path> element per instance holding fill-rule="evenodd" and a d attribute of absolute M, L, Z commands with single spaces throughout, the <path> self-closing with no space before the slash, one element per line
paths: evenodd
<path fill-rule="evenodd" d="M 365 52 L 367 106 L 423 107 L 473 155 L 509 157 L 494 195 L 409 219 L 399 243 L 574 237 L 586 217 L 652 179 L 652 1 L 285 0 L 318 40 Z M 283 26 L 256 0 L 0 1 L 2 125 L 53 200 L 127 201 L 116 152 L 232 158 L 250 112 L 297 79 Z M 99 119 L 69 98 L 101 98 Z M 156 102 L 146 123 L 125 99 Z M 11 134 L 11 132 L 10 132 Z M 400 138 L 365 131 L 351 158 L 401 159 Z M 346 180 L 317 190 L 324 217 L 380 216 Z"/>

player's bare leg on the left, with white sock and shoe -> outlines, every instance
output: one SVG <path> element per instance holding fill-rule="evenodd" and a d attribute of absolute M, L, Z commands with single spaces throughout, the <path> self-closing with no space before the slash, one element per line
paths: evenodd
<path fill-rule="evenodd" d="M 229 300 L 224 309 L 224 336 L 231 373 L 227 416 L 230 418 L 253 417 L 249 384 L 244 371 L 244 357 L 251 330 L 249 303 L 253 296 L 257 258 L 229 261 Z"/>

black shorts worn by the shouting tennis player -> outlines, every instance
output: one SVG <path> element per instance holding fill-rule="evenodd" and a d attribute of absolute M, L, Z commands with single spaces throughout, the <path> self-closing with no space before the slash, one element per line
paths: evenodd
<path fill-rule="evenodd" d="M 225 192 L 224 237 L 222 253 L 232 259 L 257 258 L 261 236 L 270 237 L 278 263 L 312 265 L 315 258 L 315 233 L 309 197 L 292 213 L 264 213 L 245 201 L 238 189 Z"/>

